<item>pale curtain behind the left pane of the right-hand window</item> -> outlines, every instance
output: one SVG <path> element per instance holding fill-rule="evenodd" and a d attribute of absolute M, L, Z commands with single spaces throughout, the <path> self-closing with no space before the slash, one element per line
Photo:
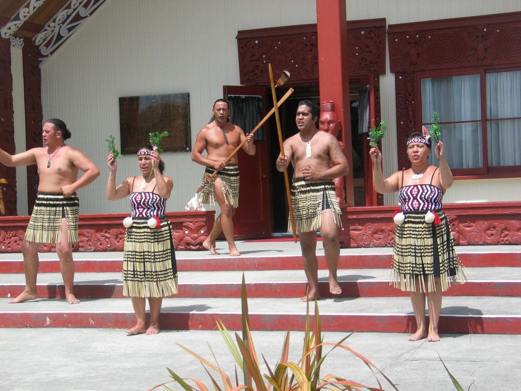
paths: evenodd
<path fill-rule="evenodd" d="M 482 167 L 481 90 L 479 75 L 421 79 L 423 124 L 430 124 L 433 112 L 440 122 L 472 121 L 443 124 L 440 140 L 451 168 Z M 429 128 L 429 125 L 426 125 Z M 438 159 L 431 153 L 432 164 Z"/>

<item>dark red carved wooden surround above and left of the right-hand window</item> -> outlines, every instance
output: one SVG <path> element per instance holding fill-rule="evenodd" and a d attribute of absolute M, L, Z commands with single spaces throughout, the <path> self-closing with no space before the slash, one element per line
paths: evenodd
<path fill-rule="evenodd" d="M 391 25 L 398 167 L 408 168 L 405 141 L 415 131 L 416 71 L 521 64 L 521 13 Z"/>

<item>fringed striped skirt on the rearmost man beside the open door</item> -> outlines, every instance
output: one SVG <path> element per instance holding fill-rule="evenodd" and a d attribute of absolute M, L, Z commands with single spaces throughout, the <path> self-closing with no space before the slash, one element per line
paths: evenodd
<path fill-rule="evenodd" d="M 212 175 L 215 169 L 213 167 L 206 167 L 203 176 Z M 220 170 L 215 178 L 219 178 L 221 182 L 222 194 L 225 196 L 226 204 L 231 205 L 233 208 L 239 207 L 239 166 L 237 164 L 230 164 Z M 197 201 L 202 204 L 215 205 L 215 194 L 214 185 L 215 178 L 209 184 L 203 187 L 203 189 L 197 193 Z"/>

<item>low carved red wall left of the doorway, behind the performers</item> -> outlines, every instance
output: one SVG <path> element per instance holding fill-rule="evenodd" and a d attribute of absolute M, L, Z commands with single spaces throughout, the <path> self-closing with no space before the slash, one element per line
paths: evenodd
<path fill-rule="evenodd" d="M 200 250 L 214 225 L 215 211 L 171 212 L 172 239 L 176 250 Z M 79 243 L 73 251 L 123 251 L 126 213 L 80 215 Z M 0 217 L 0 253 L 20 252 L 30 216 Z M 44 244 L 40 252 L 55 252 L 56 246 Z"/>

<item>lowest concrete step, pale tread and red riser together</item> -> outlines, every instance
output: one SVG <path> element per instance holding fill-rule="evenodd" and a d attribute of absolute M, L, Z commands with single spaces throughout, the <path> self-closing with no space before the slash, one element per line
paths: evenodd
<path fill-rule="evenodd" d="M 304 329 L 306 303 L 296 298 L 249 298 L 254 330 Z M 335 298 L 318 301 L 324 331 L 410 333 L 415 327 L 411 301 L 394 298 Z M 314 312 L 314 304 L 309 306 Z M 241 328 L 237 298 L 165 298 L 163 329 L 216 329 L 220 319 Z M 0 302 L 0 327 L 128 327 L 135 322 L 128 299 L 84 299 L 70 305 L 63 299 L 36 299 L 19 304 Z M 440 333 L 521 333 L 521 298 L 444 297 Z"/>

